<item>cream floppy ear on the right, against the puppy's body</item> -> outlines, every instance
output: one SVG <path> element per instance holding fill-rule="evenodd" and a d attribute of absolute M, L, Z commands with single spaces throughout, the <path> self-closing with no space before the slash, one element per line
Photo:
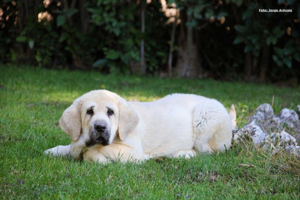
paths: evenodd
<path fill-rule="evenodd" d="M 136 111 L 128 105 L 127 101 L 120 97 L 119 100 L 119 117 L 118 117 L 118 134 L 121 140 L 124 140 L 139 121 Z"/>

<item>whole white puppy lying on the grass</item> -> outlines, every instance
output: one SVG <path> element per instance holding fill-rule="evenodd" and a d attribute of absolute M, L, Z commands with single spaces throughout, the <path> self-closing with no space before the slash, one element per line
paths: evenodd
<path fill-rule="evenodd" d="M 126 101 L 107 90 L 83 94 L 62 113 L 67 146 L 45 150 L 104 163 L 222 151 L 231 144 L 235 110 L 214 99 L 170 94 L 152 102 Z"/>

